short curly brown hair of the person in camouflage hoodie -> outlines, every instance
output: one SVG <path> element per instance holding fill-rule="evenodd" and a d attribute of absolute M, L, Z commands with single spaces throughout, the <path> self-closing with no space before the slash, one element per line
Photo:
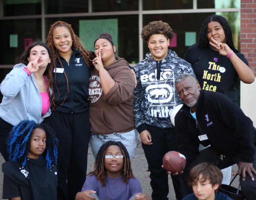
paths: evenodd
<path fill-rule="evenodd" d="M 141 37 L 144 42 L 148 42 L 150 36 L 153 34 L 163 34 L 167 40 L 173 38 L 174 35 L 169 24 L 161 20 L 150 22 L 141 31 Z"/>

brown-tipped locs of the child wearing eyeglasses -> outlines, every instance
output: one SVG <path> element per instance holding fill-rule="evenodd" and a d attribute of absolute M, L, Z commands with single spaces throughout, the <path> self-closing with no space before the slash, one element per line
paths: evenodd
<path fill-rule="evenodd" d="M 124 183 L 128 183 L 130 178 L 134 178 L 134 175 L 132 173 L 132 168 L 131 168 L 130 156 L 127 152 L 126 147 L 123 145 L 122 142 L 108 141 L 100 147 L 100 150 L 98 151 L 95 162 L 94 162 L 94 167 L 93 167 L 94 170 L 88 174 L 88 175 L 95 175 L 96 178 L 102 182 L 103 187 L 106 186 L 106 182 L 107 182 L 106 168 L 104 166 L 105 153 L 108 147 L 111 145 L 118 146 L 121 149 L 122 154 L 124 155 L 124 158 L 123 158 L 124 166 L 122 168 L 122 174 L 121 174 L 122 181 Z"/>

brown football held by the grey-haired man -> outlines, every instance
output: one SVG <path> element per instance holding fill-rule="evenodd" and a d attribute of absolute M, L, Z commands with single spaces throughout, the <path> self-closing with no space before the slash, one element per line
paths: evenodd
<path fill-rule="evenodd" d="M 186 166 L 186 158 L 180 152 L 169 151 L 163 157 L 163 165 L 166 171 L 181 172 Z"/>

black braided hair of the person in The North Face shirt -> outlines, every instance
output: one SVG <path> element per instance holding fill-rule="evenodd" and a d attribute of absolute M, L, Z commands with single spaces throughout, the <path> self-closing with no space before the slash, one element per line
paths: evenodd
<path fill-rule="evenodd" d="M 209 40 L 207 38 L 207 30 L 208 30 L 208 24 L 212 21 L 219 22 L 221 24 L 221 26 L 223 27 L 224 33 L 225 33 L 226 44 L 234 52 L 238 52 L 238 50 L 235 48 L 235 46 L 233 44 L 232 32 L 231 32 L 231 28 L 228 24 L 228 21 L 220 15 L 211 15 L 204 20 L 204 22 L 201 26 L 200 34 L 199 34 L 198 46 L 201 48 L 206 48 L 209 46 Z"/>

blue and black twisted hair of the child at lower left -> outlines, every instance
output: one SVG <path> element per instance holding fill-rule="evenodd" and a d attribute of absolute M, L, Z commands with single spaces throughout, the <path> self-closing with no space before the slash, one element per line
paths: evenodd
<path fill-rule="evenodd" d="M 39 158 L 44 158 L 47 169 L 51 169 L 51 165 L 57 165 L 58 139 L 50 126 L 43 123 L 36 124 L 33 120 L 23 120 L 12 128 L 6 142 L 9 160 L 26 165 L 31 135 L 36 128 L 43 129 L 46 133 L 46 148 Z"/>

